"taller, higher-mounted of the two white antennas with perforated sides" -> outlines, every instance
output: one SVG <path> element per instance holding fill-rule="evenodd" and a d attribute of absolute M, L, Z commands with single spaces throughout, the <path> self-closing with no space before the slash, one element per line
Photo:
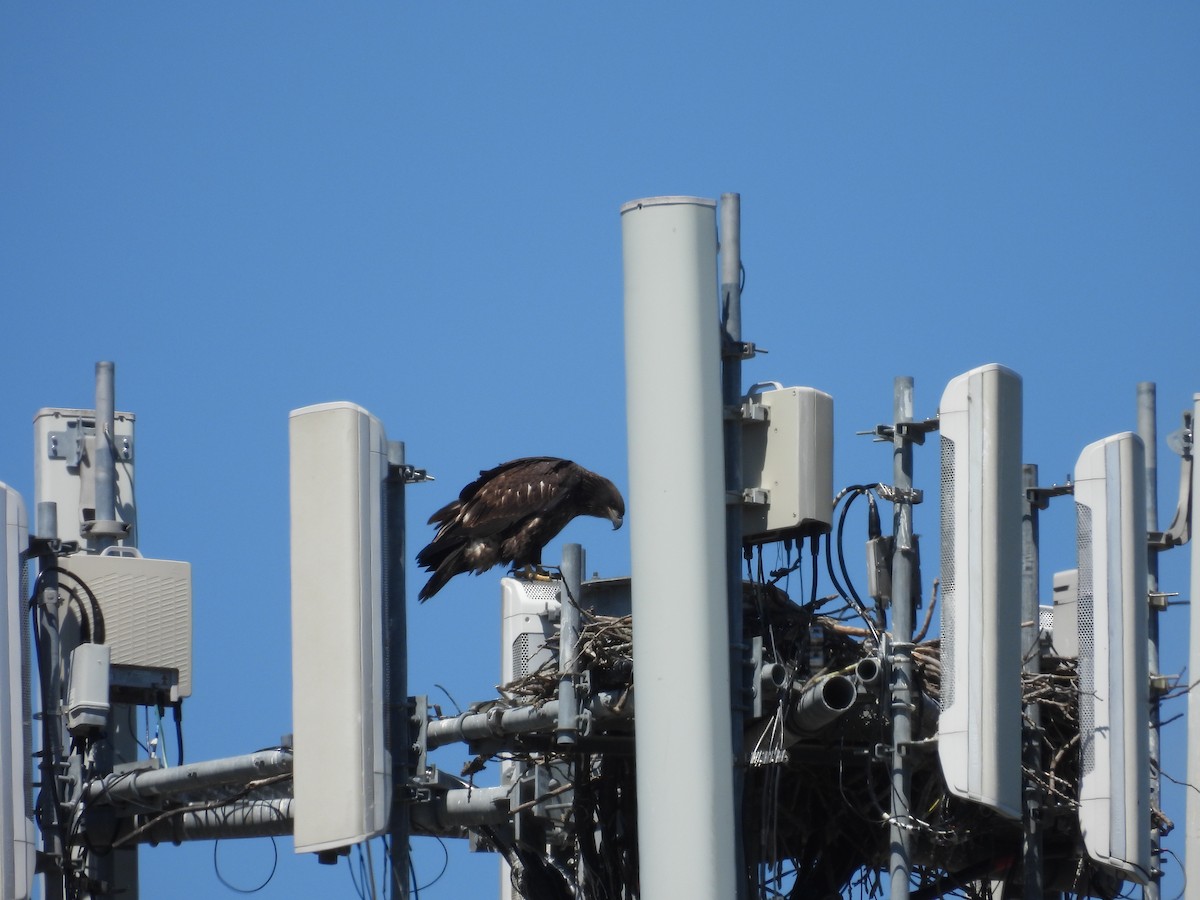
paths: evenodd
<path fill-rule="evenodd" d="M 938 756 L 958 797 L 1021 815 L 1021 379 L 952 380 L 942 443 Z"/>

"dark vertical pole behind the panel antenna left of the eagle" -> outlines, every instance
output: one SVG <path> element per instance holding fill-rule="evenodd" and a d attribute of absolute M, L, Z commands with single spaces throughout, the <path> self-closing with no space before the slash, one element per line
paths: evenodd
<path fill-rule="evenodd" d="M 391 893 L 407 900 L 408 877 L 408 784 L 412 768 L 408 707 L 408 618 L 404 608 L 404 444 L 388 442 L 388 479 L 384 485 L 384 577 L 383 602 L 386 616 L 384 649 L 385 702 L 388 704 L 386 746 L 391 755 L 391 812 L 388 820 L 391 859 Z"/>

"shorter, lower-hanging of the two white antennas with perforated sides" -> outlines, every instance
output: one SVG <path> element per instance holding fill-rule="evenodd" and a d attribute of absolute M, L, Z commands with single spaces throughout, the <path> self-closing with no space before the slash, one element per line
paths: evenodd
<path fill-rule="evenodd" d="M 1075 463 L 1080 784 L 1087 854 L 1147 883 L 1146 460 L 1132 432 Z"/>

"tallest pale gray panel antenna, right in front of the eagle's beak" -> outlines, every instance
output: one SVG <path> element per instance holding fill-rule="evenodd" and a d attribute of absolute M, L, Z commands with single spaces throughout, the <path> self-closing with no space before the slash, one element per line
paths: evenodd
<path fill-rule="evenodd" d="M 736 895 L 715 205 L 622 208 L 643 900 Z"/>

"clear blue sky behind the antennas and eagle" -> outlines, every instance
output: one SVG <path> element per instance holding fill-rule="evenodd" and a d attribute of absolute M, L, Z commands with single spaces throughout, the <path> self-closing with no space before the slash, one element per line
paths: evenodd
<path fill-rule="evenodd" d="M 854 432 L 889 420 L 898 374 L 932 415 L 967 368 L 1020 372 L 1046 482 L 1134 427 L 1138 382 L 1164 439 L 1200 390 L 1192 4 L 18 1 L 0 116 L 0 480 L 32 502 L 34 412 L 90 407 L 115 360 L 142 550 L 193 564 L 192 760 L 290 731 L 289 409 L 355 401 L 437 475 L 410 492 L 410 553 L 502 460 L 625 486 L 625 200 L 742 194 L 744 331 L 770 350 L 746 383 L 834 396 L 839 486 L 888 480 Z M 936 485 L 928 448 L 917 479 Z M 1070 523 L 1045 521 L 1046 586 Z M 564 539 L 622 575 L 628 534 Z M 484 576 L 412 606 L 413 691 L 493 695 L 497 598 Z M 1165 671 L 1186 623 L 1164 625 Z M 1182 739 L 1169 726 L 1176 778 Z M 1181 851 L 1177 790 L 1168 814 Z M 278 853 L 258 896 L 354 896 L 344 865 Z M 271 847 L 220 858 L 250 887 Z M 440 865 L 419 841 L 419 877 Z M 146 850 L 142 876 L 148 900 L 228 895 L 210 844 Z M 456 850 L 421 896 L 494 884 L 494 857 Z"/>

